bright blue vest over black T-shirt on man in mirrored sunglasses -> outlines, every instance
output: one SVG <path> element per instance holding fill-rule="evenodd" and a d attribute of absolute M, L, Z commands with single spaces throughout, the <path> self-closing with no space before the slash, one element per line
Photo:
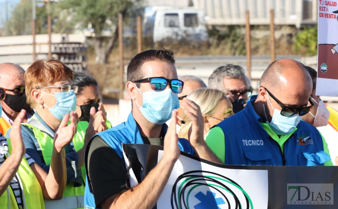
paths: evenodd
<path fill-rule="evenodd" d="M 161 137 L 164 139 L 164 136 L 167 132 L 168 126 L 166 124 L 162 125 Z M 122 144 L 144 144 L 141 137 L 139 128 L 136 125 L 136 121 L 132 116 L 132 113 L 129 114 L 126 122 L 123 122 L 115 127 L 107 129 L 105 131 L 99 132 L 96 136 L 100 136 L 109 146 L 111 146 L 115 152 L 123 158 Z M 94 136 L 95 137 L 95 136 Z M 188 154 L 194 155 L 194 149 L 190 146 L 189 141 L 186 139 L 178 139 L 178 147 L 181 151 Z M 85 159 L 85 164 L 88 159 Z M 95 207 L 94 196 L 89 189 L 88 176 L 86 176 L 86 188 L 84 191 L 84 208 L 93 209 Z"/>

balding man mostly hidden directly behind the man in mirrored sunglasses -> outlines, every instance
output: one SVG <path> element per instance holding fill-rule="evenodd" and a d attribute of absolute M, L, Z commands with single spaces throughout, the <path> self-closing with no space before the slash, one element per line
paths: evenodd
<path fill-rule="evenodd" d="M 200 89 L 200 88 L 207 88 L 206 83 L 204 81 L 196 76 L 191 76 L 191 75 L 184 75 L 184 76 L 178 76 L 178 79 L 184 82 L 183 90 L 180 94 L 178 94 L 178 100 L 180 107 L 177 109 L 178 111 L 178 118 L 180 118 L 177 121 L 176 125 L 176 131 L 178 131 L 181 128 L 182 125 L 182 114 L 183 114 L 183 109 L 182 107 L 182 102 L 183 98 L 187 97 L 190 92 L 192 92 L 195 89 Z M 166 122 L 167 125 L 169 125 L 171 122 L 171 119 Z"/>

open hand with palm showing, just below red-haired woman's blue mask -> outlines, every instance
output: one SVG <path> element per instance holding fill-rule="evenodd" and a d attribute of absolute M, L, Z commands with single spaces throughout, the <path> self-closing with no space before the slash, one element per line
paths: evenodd
<path fill-rule="evenodd" d="M 70 119 L 69 119 L 70 117 Z M 67 125 L 70 120 L 70 124 Z M 58 152 L 61 152 L 69 143 L 72 142 L 77 130 L 78 116 L 76 111 L 66 114 L 61 121 L 54 136 L 54 146 Z"/>

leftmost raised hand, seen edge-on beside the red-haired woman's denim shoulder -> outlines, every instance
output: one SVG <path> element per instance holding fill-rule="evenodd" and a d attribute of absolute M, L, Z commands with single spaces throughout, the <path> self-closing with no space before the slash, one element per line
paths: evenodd
<path fill-rule="evenodd" d="M 9 132 L 9 138 L 12 145 L 12 154 L 18 154 L 23 157 L 26 153 L 26 147 L 23 143 L 22 137 L 21 137 L 21 130 L 20 130 L 20 124 L 23 122 L 23 119 L 25 118 L 26 111 L 21 110 L 19 115 L 15 118 L 13 127 L 11 128 Z"/>

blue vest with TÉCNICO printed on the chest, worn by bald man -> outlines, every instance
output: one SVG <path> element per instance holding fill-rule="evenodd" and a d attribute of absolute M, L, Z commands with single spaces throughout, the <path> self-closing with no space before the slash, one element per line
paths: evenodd
<path fill-rule="evenodd" d="M 223 120 L 219 126 L 225 138 L 225 164 L 265 166 L 323 166 L 330 160 L 324 152 L 319 131 L 300 121 L 297 130 L 280 145 L 268 135 L 252 104 L 248 101 L 244 110 Z"/>

